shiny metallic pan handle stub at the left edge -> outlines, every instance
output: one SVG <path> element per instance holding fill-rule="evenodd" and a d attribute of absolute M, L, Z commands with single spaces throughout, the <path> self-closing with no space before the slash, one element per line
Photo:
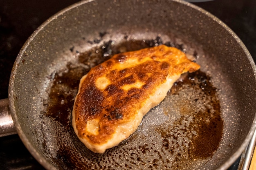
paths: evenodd
<path fill-rule="evenodd" d="M 16 133 L 9 109 L 9 99 L 0 99 L 0 137 Z"/>

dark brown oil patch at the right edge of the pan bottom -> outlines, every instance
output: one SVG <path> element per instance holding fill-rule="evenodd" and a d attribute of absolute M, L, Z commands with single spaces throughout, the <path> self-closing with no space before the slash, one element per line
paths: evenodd
<path fill-rule="evenodd" d="M 211 79 L 203 72 L 197 71 L 188 76 L 190 78 L 187 84 L 195 91 L 200 91 L 201 97 L 198 96 L 194 99 L 195 104 L 200 102 L 204 104 L 204 107 L 200 104 L 200 109 L 195 110 L 193 114 L 195 119 L 190 127 L 197 132 L 197 135 L 192 138 L 189 154 L 191 158 L 211 157 L 220 144 L 223 131 L 217 89 L 213 87 Z M 193 81 L 198 81 L 197 87 Z M 206 150 L 207 152 L 205 152 Z"/>

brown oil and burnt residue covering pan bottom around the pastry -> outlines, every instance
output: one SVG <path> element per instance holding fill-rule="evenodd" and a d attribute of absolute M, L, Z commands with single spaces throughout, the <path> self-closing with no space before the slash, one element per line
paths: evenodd
<path fill-rule="evenodd" d="M 74 133 L 72 107 L 81 77 L 90 68 L 116 53 L 160 44 L 175 46 L 184 51 L 182 44 L 163 43 L 160 37 L 154 40 L 127 39 L 117 45 L 108 41 L 98 48 L 81 53 L 77 63 L 68 63 L 66 69 L 49 76 L 52 86 L 47 92 L 49 99 L 44 100 L 44 116 L 54 122 L 56 128 L 53 140 L 57 146 L 51 157 L 56 159 L 55 163 L 59 167 L 198 169 L 204 164 L 202 160 L 207 161 L 213 156 L 220 144 L 223 121 L 216 89 L 210 78 L 201 71 L 183 75 L 164 101 L 144 117 L 138 130 L 104 154 L 88 150 Z M 195 51 L 194 57 L 196 55 Z"/>

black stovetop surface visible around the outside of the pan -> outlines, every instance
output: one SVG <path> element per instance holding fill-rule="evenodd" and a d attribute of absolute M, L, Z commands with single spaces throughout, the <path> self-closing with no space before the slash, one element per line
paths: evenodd
<path fill-rule="evenodd" d="M 78 0 L 0 0 L 0 99 L 8 97 L 14 60 L 29 35 L 47 18 Z M 194 3 L 225 22 L 256 61 L 256 1 L 214 0 Z M 237 170 L 239 159 L 229 170 Z M 1 170 L 44 170 L 18 135 L 0 138 Z"/>

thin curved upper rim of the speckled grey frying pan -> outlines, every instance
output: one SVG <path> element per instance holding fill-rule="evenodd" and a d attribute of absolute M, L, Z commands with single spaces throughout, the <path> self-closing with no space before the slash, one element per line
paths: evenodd
<path fill-rule="evenodd" d="M 16 115 L 16 110 L 15 110 L 15 107 L 14 107 L 14 86 L 13 85 L 14 85 L 14 80 L 15 80 L 15 77 L 16 77 L 16 72 L 17 72 L 17 69 L 18 69 L 18 65 L 20 64 L 21 58 L 22 58 L 25 50 L 29 46 L 30 42 L 33 41 L 33 39 L 36 37 L 36 35 L 40 31 L 43 31 L 45 26 L 47 26 L 50 22 L 53 22 L 54 20 L 56 20 L 60 15 L 63 15 L 67 11 L 70 11 L 71 9 L 79 7 L 82 4 L 86 4 L 86 3 L 94 2 L 94 1 L 97 1 L 97 0 L 83 0 L 81 2 L 77 2 L 75 4 L 72 4 L 71 6 L 66 7 L 65 9 L 59 11 L 58 13 L 54 14 L 52 17 L 47 19 L 45 22 L 43 22 L 43 24 L 41 24 L 38 27 L 38 29 L 36 29 L 34 31 L 34 33 L 32 33 L 30 35 L 28 40 L 22 46 L 20 52 L 18 53 L 18 55 L 16 57 L 16 60 L 15 60 L 14 64 L 13 64 L 13 68 L 12 68 L 11 76 L 10 76 L 10 81 L 9 81 L 9 103 L 10 103 L 9 107 L 10 107 L 11 115 L 12 115 L 12 118 L 13 118 L 13 122 L 16 126 L 18 135 L 19 135 L 20 139 L 22 140 L 23 144 L 25 145 L 25 147 L 29 150 L 31 155 L 33 155 L 33 157 L 46 169 L 56 170 L 56 168 L 54 166 L 52 166 L 52 164 L 50 164 L 48 161 L 46 161 L 46 159 L 42 159 L 42 157 L 40 156 L 40 153 L 38 153 L 36 151 L 36 149 L 30 144 L 29 140 L 27 139 L 27 137 L 25 135 L 25 132 L 22 130 L 22 128 L 19 124 L 18 117 Z M 255 66 L 254 60 L 253 60 L 251 54 L 249 53 L 248 49 L 246 48 L 246 46 L 243 44 L 243 42 L 240 40 L 240 38 L 236 35 L 236 33 L 234 33 L 234 31 L 232 31 L 229 28 L 229 26 L 227 26 L 224 22 L 222 22 L 220 19 L 218 19 L 216 16 L 212 15 L 208 11 L 206 11 L 206 10 L 204 10 L 204 9 L 194 5 L 194 4 L 191 4 L 189 2 L 186 2 L 186 1 L 183 1 L 183 0 L 166 0 L 166 1 L 168 1 L 168 2 L 171 2 L 171 1 L 178 2 L 180 4 L 184 4 L 188 7 L 191 7 L 193 9 L 197 10 L 197 11 L 200 11 L 203 15 L 207 15 L 209 18 L 211 18 L 213 21 L 217 22 L 225 30 L 227 30 L 227 32 L 236 40 L 236 42 L 239 44 L 239 46 L 241 46 L 241 48 L 245 52 L 245 54 L 247 56 L 247 60 L 249 60 L 250 65 L 252 66 L 252 69 L 253 69 L 253 72 L 254 72 L 254 78 L 256 80 L 256 66 Z M 227 161 L 225 161 L 225 163 L 222 163 L 217 170 L 225 170 L 225 169 L 229 168 L 232 165 L 232 163 L 234 163 L 236 161 L 236 159 L 238 159 L 238 157 L 242 154 L 242 152 L 245 150 L 245 148 L 249 144 L 249 141 L 251 140 L 255 129 L 256 129 L 256 114 L 254 116 L 254 120 L 253 120 L 252 126 L 249 130 L 249 133 L 247 134 L 247 136 L 246 136 L 245 140 L 243 141 L 243 143 L 241 144 L 241 146 L 238 148 L 238 150 L 236 150 L 236 152 L 234 152 L 233 156 L 230 157 L 229 159 L 227 159 Z"/>

